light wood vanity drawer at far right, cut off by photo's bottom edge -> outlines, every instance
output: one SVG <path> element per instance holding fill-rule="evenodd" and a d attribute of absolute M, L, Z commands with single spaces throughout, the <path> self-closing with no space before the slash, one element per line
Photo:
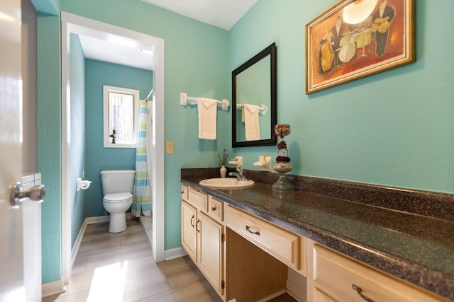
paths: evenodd
<path fill-rule="evenodd" d="M 321 245 L 314 245 L 314 249 L 314 301 L 365 301 L 353 289 L 353 284 L 372 301 L 441 301 L 423 289 L 389 277 Z"/>

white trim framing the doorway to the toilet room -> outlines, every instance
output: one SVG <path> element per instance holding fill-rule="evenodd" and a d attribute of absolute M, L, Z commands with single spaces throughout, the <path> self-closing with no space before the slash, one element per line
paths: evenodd
<path fill-rule="evenodd" d="M 138 45 L 155 47 L 153 75 L 153 258 L 165 260 L 164 200 L 164 40 L 115 25 L 62 11 L 62 281 L 68 283 L 71 274 L 71 184 L 70 180 L 70 33 L 99 37 L 127 37 Z"/>

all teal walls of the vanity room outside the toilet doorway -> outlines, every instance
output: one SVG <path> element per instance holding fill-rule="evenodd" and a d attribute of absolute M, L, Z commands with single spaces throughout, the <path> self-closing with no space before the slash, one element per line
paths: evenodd
<path fill-rule="evenodd" d="M 292 173 L 397 187 L 454 192 L 454 41 L 450 0 L 416 2 L 414 64 L 304 94 L 304 27 L 337 0 L 259 0 L 230 31 L 179 16 L 143 1 L 62 0 L 79 16 L 165 40 L 165 249 L 180 244 L 179 169 L 216 167 L 223 148 L 255 169 L 275 146 L 231 149 L 231 112 L 218 110 L 218 139 L 197 138 L 195 107 L 179 93 L 231 100 L 231 71 L 277 43 L 277 120 L 292 125 L 286 141 Z M 125 18 L 125 16 L 127 18 Z M 61 274 L 60 23 L 38 16 L 38 170 L 43 204 L 43 282 Z M 165 146 L 162 146 L 164 148 Z"/>

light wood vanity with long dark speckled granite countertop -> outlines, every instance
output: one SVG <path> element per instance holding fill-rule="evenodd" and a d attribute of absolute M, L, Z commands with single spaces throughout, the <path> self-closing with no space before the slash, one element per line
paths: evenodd
<path fill-rule="evenodd" d="M 210 173 L 182 169 L 182 246 L 223 301 L 454 301 L 451 194 L 314 178 L 276 194 L 251 171 L 216 190 Z"/>

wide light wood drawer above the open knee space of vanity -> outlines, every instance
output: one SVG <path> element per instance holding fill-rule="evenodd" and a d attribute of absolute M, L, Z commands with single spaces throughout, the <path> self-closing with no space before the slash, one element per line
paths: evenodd
<path fill-rule="evenodd" d="M 226 224 L 265 252 L 299 270 L 299 236 L 231 206 L 227 206 Z"/>

